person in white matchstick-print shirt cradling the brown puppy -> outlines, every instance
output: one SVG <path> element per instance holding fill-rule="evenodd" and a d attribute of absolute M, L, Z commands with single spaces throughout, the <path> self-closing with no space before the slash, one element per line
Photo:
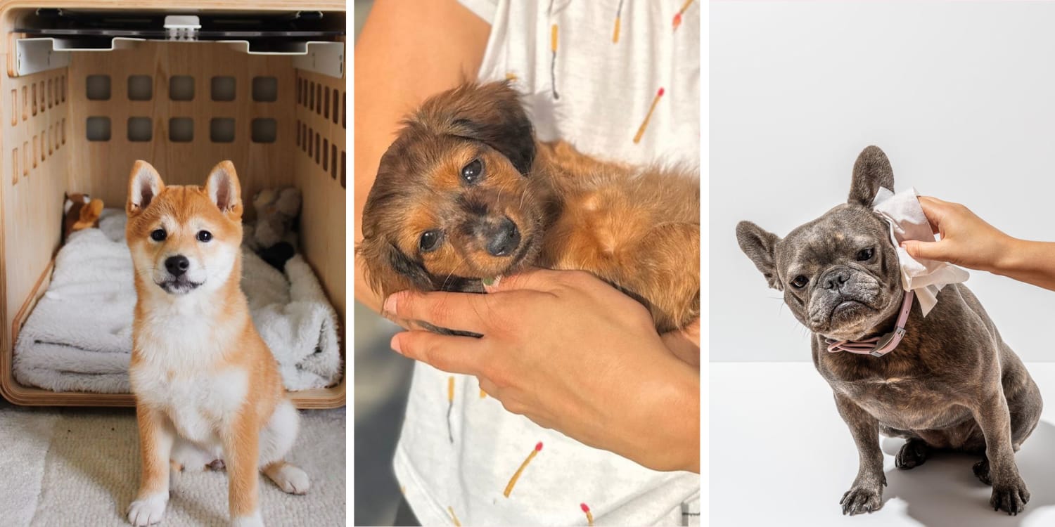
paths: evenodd
<path fill-rule="evenodd" d="M 542 140 L 698 165 L 699 8 L 377 3 L 356 46 L 357 217 L 400 118 L 472 78 L 525 94 Z M 419 360 L 395 468 L 422 524 L 698 523 L 698 320 L 659 335 L 640 304 L 576 271 L 505 276 L 486 295 L 379 298 L 357 264 L 356 284 L 404 327 L 485 335 L 392 339 Z M 398 524 L 415 521 L 406 512 Z"/>

